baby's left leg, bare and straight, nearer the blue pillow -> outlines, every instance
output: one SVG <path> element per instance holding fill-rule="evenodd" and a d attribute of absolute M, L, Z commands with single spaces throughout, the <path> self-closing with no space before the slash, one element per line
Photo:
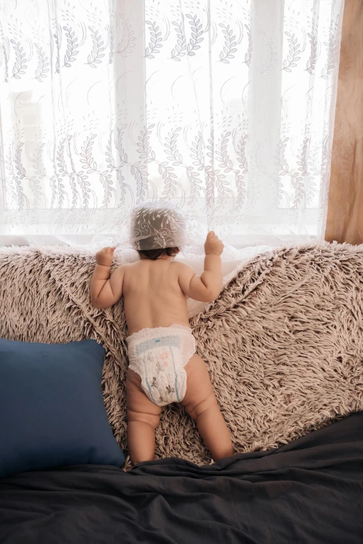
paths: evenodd
<path fill-rule="evenodd" d="M 161 406 L 157 406 L 143 392 L 141 379 L 128 370 L 127 390 L 127 443 L 134 465 L 152 461 L 155 450 L 155 429 L 159 425 Z"/>

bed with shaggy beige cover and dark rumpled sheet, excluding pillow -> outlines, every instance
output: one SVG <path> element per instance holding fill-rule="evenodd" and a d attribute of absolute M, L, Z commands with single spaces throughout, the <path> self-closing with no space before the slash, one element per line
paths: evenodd
<path fill-rule="evenodd" d="M 122 303 L 90 306 L 86 249 L 2 248 L 0 336 L 104 346 L 104 405 L 127 454 Z M 156 458 L 0 481 L 0 543 L 362 543 L 363 247 L 255 256 L 191 319 L 237 453 L 211 464 L 168 406 Z"/>

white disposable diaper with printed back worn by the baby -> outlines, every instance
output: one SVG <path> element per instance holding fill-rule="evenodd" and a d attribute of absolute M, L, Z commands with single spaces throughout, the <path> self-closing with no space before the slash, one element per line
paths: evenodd
<path fill-rule="evenodd" d="M 130 370 L 141 378 L 147 397 L 158 406 L 181 402 L 186 392 L 184 366 L 195 354 L 189 327 L 170 325 L 142 329 L 127 338 Z"/>

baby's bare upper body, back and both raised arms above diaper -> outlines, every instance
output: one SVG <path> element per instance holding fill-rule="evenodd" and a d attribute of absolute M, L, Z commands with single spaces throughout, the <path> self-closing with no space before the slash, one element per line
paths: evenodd
<path fill-rule="evenodd" d="M 97 253 L 91 281 L 91 301 L 96 308 L 112 306 L 124 296 L 129 334 L 145 328 L 181 324 L 189 327 L 186 297 L 211 302 L 222 290 L 220 254 L 223 242 L 209 233 L 205 244 L 204 272 L 197 276 L 190 266 L 164 256 L 118 267 L 110 278 L 113 249 Z M 136 311 L 137 308 L 137 311 Z"/>

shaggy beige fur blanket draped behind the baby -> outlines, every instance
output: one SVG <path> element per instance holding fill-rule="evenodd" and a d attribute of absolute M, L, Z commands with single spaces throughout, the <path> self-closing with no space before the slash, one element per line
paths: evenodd
<path fill-rule="evenodd" d="M 95 258 L 65 248 L 0 249 L 0 336 L 106 348 L 104 401 L 124 450 L 123 303 L 90 305 Z M 236 452 L 265 450 L 363 409 L 363 247 L 287 247 L 257 256 L 191 320 Z M 163 410 L 157 456 L 210 461 L 180 406 Z"/>

